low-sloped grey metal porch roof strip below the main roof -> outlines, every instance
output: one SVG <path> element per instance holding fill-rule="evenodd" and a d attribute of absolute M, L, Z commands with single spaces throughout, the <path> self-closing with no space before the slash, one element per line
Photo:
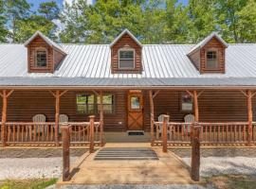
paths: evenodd
<path fill-rule="evenodd" d="M 2 77 L 0 88 L 255 88 L 256 77 L 243 78 L 84 78 Z"/>

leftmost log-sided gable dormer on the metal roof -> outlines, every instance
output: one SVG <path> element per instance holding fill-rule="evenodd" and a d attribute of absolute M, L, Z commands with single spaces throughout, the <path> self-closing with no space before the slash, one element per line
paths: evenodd
<path fill-rule="evenodd" d="M 28 73 L 53 73 L 66 55 L 59 44 L 52 42 L 40 31 L 24 45 L 27 47 Z"/>

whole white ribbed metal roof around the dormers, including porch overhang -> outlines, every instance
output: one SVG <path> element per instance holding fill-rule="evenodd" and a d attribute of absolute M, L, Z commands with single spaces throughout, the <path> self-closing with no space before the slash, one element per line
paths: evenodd
<path fill-rule="evenodd" d="M 51 73 L 27 73 L 27 48 L 0 44 L 0 85 L 255 85 L 256 44 L 229 44 L 225 74 L 202 74 L 187 54 L 194 45 L 147 44 L 142 48 L 141 74 L 112 74 L 107 44 L 61 44 L 67 53 Z M 46 79 L 47 78 L 47 79 Z M 117 79 L 118 78 L 118 79 Z M 28 82 L 29 81 L 29 82 Z M 86 82 L 85 82 L 86 81 Z M 89 82 L 90 81 L 90 82 Z"/>

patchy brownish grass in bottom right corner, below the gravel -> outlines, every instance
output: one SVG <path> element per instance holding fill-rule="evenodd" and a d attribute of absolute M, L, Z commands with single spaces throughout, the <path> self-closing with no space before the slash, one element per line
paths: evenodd
<path fill-rule="evenodd" d="M 206 178 L 217 189 L 255 189 L 256 176 L 223 175 Z"/>

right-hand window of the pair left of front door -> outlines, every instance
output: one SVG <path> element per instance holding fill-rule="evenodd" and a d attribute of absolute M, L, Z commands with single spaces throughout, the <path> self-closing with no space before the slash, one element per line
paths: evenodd
<path fill-rule="evenodd" d="M 104 94 L 102 96 L 102 105 L 103 105 L 103 112 L 105 113 L 113 113 L 114 112 L 114 95 L 113 94 Z M 97 97 L 97 105 L 98 105 L 98 112 L 101 110 L 101 98 L 100 96 Z"/>

